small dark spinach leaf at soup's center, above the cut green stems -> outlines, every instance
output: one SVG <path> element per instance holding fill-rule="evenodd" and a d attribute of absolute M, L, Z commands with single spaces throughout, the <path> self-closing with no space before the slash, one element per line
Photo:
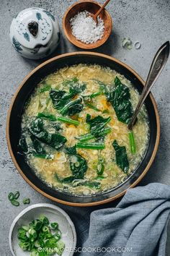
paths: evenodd
<path fill-rule="evenodd" d="M 104 118 L 102 116 L 96 116 L 94 119 L 91 119 L 89 114 L 86 115 L 86 123 L 90 125 L 90 132 L 95 137 L 99 136 L 99 133 L 102 132 L 104 126 L 111 120 L 110 116 Z"/>

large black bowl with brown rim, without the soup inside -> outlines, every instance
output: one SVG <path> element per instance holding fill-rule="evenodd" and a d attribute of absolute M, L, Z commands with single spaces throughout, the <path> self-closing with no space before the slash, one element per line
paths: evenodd
<path fill-rule="evenodd" d="M 144 82 L 139 75 L 133 71 L 133 69 L 117 59 L 107 55 L 92 52 L 75 52 L 57 56 L 40 64 L 40 66 L 30 72 L 30 74 L 28 74 L 27 77 L 25 77 L 22 81 L 17 93 L 15 93 L 14 98 L 12 99 L 12 103 L 9 108 L 6 124 L 6 139 L 12 160 L 14 161 L 19 173 L 28 184 L 37 190 L 37 192 L 40 192 L 42 195 L 45 195 L 45 197 L 48 197 L 51 200 L 67 205 L 99 205 L 104 202 L 115 200 L 117 197 L 124 195 L 126 189 L 129 187 L 134 187 L 136 184 L 138 184 L 138 182 L 140 182 L 148 169 L 151 167 L 151 163 L 153 163 L 153 159 L 155 158 L 156 151 L 158 149 L 160 137 L 160 122 L 153 95 L 148 95 L 148 98 L 146 99 L 146 108 L 150 121 L 150 140 L 146 155 L 143 157 L 143 161 L 140 163 L 140 166 L 138 166 L 134 173 L 131 174 L 125 182 L 118 185 L 114 189 L 109 190 L 108 192 L 103 192 L 100 195 L 79 197 L 68 195 L 65 192 L 58 192 L 43 183 L 35 175 L 32 168 L 30 168 L 30 166 L 28 166 L 24 161 L 24 156 L 17 153 L 24 103 L 30 97 L 37 83 L 39 83 L 40 80 L 42 80 L 48 74 L 54 72 L 56 69 L 61 69 L 66 65 L 70 66 L 79 63 L 99 64 L 101 66 L 107 66 L 111 69 L 115 69 L 117 72 L 123 74 L 128 80 L 130 80 L 139 93 L 141 93 L 143 90 Z"/>

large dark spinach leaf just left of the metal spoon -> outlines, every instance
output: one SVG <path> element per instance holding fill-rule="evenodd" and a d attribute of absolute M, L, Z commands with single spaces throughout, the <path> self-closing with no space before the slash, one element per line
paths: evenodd
<path fill-rule="evenodd" d="M 122 121 L 122 123 L 128 124 L 133 116 L 133 107 L 130 102 L 130 90 L 120 82 L 118 77 L 115 77 L 114 82 L 115 88 L 113 87 L 112 90 L 108 90 L 108 88 L 105 87 L 104 92 L 107 96 L 107 101 L 109 101 L 115 109 L 117 119 Z"/>

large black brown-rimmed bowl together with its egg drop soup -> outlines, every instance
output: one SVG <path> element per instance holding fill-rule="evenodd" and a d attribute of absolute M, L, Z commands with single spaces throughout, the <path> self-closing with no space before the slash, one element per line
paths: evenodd
<path fill-rule="evenodd" d="M 158 110 L 148 95 L 128 123 L 144 82 L 126 64 L 91 52 L 45 61 L 23 80 L 9 108 L 6 138 L 23 178 L 68 205 L 115 200 L 155 158 Z"/>

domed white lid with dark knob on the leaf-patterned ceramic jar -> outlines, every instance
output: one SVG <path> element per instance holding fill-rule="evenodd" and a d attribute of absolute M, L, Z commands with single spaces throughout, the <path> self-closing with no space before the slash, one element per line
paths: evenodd
<path fill-rule="evenodd" d="M 22 46 L 33 49 L 45 46 L 53 35 L 53 24 L 47 11 L 25 9 L 14 20 L 14 35 Z"/>

